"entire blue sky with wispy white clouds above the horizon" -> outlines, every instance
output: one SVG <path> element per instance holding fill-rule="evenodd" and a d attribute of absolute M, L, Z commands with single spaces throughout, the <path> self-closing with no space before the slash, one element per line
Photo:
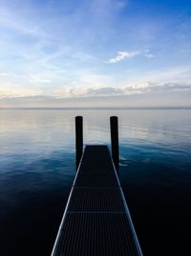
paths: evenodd
<path fill-rule="evenodd" d="M 0 0 L 14 106 L 191 106 L 191 0 Z"/>

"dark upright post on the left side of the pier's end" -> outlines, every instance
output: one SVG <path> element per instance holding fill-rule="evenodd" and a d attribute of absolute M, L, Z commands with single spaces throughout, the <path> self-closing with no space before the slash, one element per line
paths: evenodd
<path fill-rule="evenodd" d="M 75 117 L 75 153 L 76 153 L 76 170 L 78 168 L 83 153 L 83 117 Z"/>

